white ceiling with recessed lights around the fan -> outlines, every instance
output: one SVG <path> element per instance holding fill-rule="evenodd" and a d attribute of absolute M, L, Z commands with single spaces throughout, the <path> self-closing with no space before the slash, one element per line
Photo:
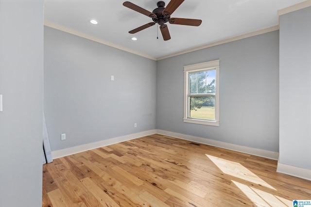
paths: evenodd
<path fill-rule="evenodd" d="M 277 10 L 304 0 L 185 0 L 171 17 L 202 19 L 202 24 L 193 27 L 167 23 L 171 34 L 168 41 L 163 40 L 157 24 L 136 34 L 128 33 L 152 19 L 124 7 L 124 1 L 44 0 L 44 18 L 45 22 L 159 58 L 276 26 Z M 152 12 L 158 0 L 129 1 Z M 164 1 L 166 5 L 169 2 Z M 92 25 L 90 19 L 99 23 Z M 137 41 L 131 40 L 134 36 Z"/>

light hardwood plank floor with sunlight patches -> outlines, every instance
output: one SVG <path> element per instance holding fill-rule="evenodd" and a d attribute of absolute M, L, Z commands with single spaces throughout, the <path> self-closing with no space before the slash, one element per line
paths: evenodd
<path fill-rule="evenodd" d="M 43 165 L 44 207 L 292 207 L 311 181 L 276 173 L 276 160 L 163 135 Z"/>

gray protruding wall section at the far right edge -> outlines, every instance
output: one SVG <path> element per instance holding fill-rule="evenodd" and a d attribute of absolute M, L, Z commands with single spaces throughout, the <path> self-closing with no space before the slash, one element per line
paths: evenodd
<path fill-rule="evenodd" d="M 279 162 L 311 170 L 311 7 L 280 16 Z"/>

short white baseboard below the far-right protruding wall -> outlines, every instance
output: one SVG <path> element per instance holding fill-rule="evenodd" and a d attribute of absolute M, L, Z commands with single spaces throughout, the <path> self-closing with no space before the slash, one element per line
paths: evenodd
<path fill-rule="evenodd" d="M 311 170 L 277 162 L 276 172 L 311 180 Z"/>

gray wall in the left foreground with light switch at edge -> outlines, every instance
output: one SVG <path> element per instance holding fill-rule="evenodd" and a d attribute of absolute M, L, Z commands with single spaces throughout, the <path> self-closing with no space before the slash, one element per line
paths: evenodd
<path fill-rule="evenodd" d="M 43 0 L 0 0 L 0 207 L 40 207 Z"/>

